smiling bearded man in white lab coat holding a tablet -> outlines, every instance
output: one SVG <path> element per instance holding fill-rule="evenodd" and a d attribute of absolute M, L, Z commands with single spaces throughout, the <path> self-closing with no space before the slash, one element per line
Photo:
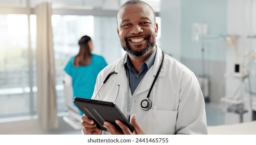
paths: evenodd
<path fill-rule="evenodd" d="M 114 102 L 134 131 L 116 120 L 123 132 L 108 121 L 103 125 L 108 130 L 105 132 L 83 115 L 83 133 L 207 134 L 199 83 L 190 69 L 156 45 L 158 24 L 150 5 L 126 2 L 117 13 L 117 26 L 127 54 L 100 72 L 92 99 Z M 113 72 L 115 75 L 109 77 Z"/>

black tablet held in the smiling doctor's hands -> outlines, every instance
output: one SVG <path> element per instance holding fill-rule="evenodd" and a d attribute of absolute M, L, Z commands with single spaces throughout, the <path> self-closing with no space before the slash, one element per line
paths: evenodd
<path fill-rule="evenodd" d="M 115 120 L 120 120 L 133 132 L 133 127 L 130 122 L 126 119 L 124 114 L 117 108 L 117 106 L 109 101 L 93 100 L 75 97 L 75 105 L 90 119 L 94 120 L 97 127 L 101 130 L 106 130 L 103 127 L 104 121 L 111 122 L 120 132 L 122 129 L 115 123 Z"/>

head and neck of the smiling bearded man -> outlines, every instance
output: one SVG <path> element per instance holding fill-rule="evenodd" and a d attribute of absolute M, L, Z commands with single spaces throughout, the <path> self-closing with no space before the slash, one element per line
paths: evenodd
<path fill-rule="evenodd" d="M 140 66 L 156 49 L 158 24 L 153 9 L 141 1 L 128 1 L 117 13 L 117 34 L 134 68 Z"/>

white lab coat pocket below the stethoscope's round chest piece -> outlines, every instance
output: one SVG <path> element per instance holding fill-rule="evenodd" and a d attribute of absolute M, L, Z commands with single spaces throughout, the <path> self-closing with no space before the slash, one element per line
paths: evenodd
<path fill-rule="evenodd" d="M 176 134 L 177 111 L 149 110 L 147 134 Z"/>

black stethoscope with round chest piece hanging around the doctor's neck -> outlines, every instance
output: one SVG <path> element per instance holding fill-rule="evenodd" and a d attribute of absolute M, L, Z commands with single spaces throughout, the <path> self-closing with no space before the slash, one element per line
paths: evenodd
<path fill-rule="evenodd" d="M 157 70 L 156 77 L 154 78 L 153 83 L 151 84 L 150 91 L 149 91 L 149 93 L 147 93 L 146 99 L 143 99 L 143 100 L 141 101 L 141 108 L 142 108 L 143 110 L 145 110 L 145 111 L 150 110 L 151 107 L 152 107 L 152 101 L 149 99 L 149 98 L 150 98 L 150 93 L 151 93 L 151 91 L 152 91 L 152 89 L 153 89 L 153 86 L 154 86 L 154 84 L 155 84 L 155 82 L 156 82 L 156 80 L 157 80 L 157 78 L 158 78 L 158 76 L 159 76 L 159 74 L 160 74 L 161 68 L 163 67 L 164 57 L 165 57 L 165 54 L 164 54 L 164 52 L 162 51 L 162 60 L 161 60 L 160 66 L 159 66 L 159 68 L 158 68 L 158 70 Z M 101 84 L 99 90 L 97 91 L 97 93 L 95 94 L 95 97 L 94 97 L 93 99 L 96 98 L 96 96 L 98 95 L 98 93 L 99 93 L 99 91 L 100 91 L 102 85 L 103 85 L 113 74 L 117 74 L 117 72 L 112 71 L 112 72 L 110 72 L 109 75 L 106 76 L 105 80 L 104 80 L 103 83 Z M 115 98 L 115 100 L 116 100 L 116 98 Z M 114 101 L 114 102 L 115 102 L 115 101 Z"/>

